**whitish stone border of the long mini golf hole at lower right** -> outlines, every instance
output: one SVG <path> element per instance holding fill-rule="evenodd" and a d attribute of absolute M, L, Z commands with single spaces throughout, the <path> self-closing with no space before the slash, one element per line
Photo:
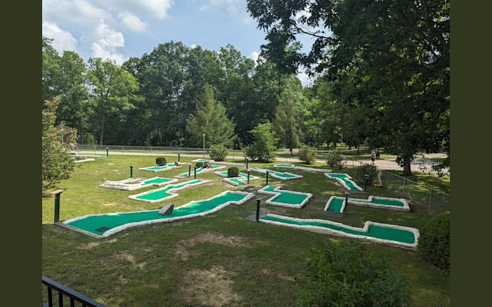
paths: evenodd
<path fill-rule="evenodd" d="M 391 227 L 391 228 L 395 228 L 395 229 L 399 229 L 399 230 L 410 231 L 415 236 L 415 243 L 412 243 L 412 244 L 393 241 L 393 240 L 383 240 L 383 239 L 379 239 L 377 237 L 368 237 L 365 235 L 353 235 L 351 233 L 344 233 L 344 232 L 339 231 L 339 230 L 324 228 L 321 226 L 302 226 L 302 225 L 281 223 L 281 222 L 277 222 L 277 221 L 268 221 L 268 220 L 263 220 L 263 219 L 259 220 L 261 223 L 268 223 L 268 224 L 274 224 L 274 225 L 279 225 L 279 226 L 286 226 L 286 227 L 290 227 L 290 228 L 297 228 L 297 229 L 301 229 L 301 230 L 311 231 L 313 233 L 321 233 L 323 235 L 335 235 L 337 237 L 349 237 L 352 239 L 361 240 L 363 242 L 385 244 L 385 245 L 389 245 L 391 247 L 401 247 L 403 249 L 412 249 L 412 250 L 417 249 L 418 238 L 420 237 L 420 232 L 417 228 L 391 225 L 391 224 L 384 224 L 384 223 L 376 223 L 373 221 L 365 221 L 363 228 L 357 228 L 357 227 L 347 226 L 347 225 L 342 224 L 342 223 L 332 222 L 332 221 L 328 221 L 328 220 L 291 218 L 289 216 L 280 216 L 277 214 L 266 214 L 266 216 L 283 218 L 283 219 L 290 220 L 290 221 L 301 221 L 301 222 L 308 221 L 308 222 L 317 222 L 317 223 L 327 223 L 327 224 L 331 224 L 331 225 L 341 226 L 341 227 L 347 228 L 349 230 L 362 231 L 362 232 L 368 232 L 370 226 L 383 226 L 383 227 Z"/>

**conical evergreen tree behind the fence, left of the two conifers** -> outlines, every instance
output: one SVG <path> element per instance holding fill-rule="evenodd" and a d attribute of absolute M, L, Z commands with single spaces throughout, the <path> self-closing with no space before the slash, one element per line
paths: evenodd
<path fill-rule="evenodd" d="M 196 105 L 195 112 L 188 119 L 189 145 L 202 145 L 203 133 L 207 136 L 209 145 L 232 145 L 234 123 L 227 118 L 224 105 L 214 99 L 212 86 L 204 86 Z"/>

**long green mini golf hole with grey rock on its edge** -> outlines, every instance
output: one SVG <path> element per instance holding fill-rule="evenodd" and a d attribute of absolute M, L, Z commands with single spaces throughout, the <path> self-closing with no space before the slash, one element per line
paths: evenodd
<path fill-rule="evenodd" d="M 114 233 L 134 226 L 150 225 L 153 223 L 169 223 L 183 218 L 205 216 L 212 214 L 229 204 L 247 202 L 253 193 L 225 191 L 207 200 L 188 202 L 174 209 L 169 215 L 160 215 L 159 210 L 134 211 L 114 214 L 89 214 L 71 218 L 58 225 L 77 230 L 93 237 L 108 237 Z"/>

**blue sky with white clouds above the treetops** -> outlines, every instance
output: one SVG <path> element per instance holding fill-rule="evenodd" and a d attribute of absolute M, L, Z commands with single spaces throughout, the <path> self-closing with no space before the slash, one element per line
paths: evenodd
<path fill-rule="evenodd" d="M 246 0 L 43 0 L 42 29 L 59 52 L 119 64 L 171 40 L 214 51 L 231 44 L 254 60 L 265 43 Z M 301 41 L 309 51 L 313 41 Z M 298 76 L 310 83 L 303 72 Z"/>

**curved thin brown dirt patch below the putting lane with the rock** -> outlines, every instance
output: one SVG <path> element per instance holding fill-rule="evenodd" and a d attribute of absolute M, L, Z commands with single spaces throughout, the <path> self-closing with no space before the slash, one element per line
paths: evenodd
<path fill-rule="evenodd" d="M 176 256 L 179 259 L 186 260 L 191 255 L 190 247 L 200 243 L 215 243 L 231 247 L 250 247 L 245 240 L 239 236 L 224 236 L 220 233 L 200 233 L 188 240 L 182 240 L 176 244 Z"/>

